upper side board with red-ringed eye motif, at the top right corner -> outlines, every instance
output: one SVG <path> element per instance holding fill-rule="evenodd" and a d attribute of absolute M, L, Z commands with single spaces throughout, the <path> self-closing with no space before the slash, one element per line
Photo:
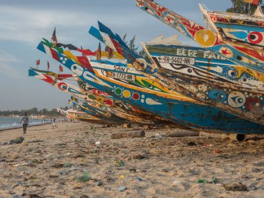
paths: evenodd
<path fill-rule="evenodd" d="M 263 51 L 264 47 L 264 15 L 259 6 L 254 15 L 213 12 L 199 4 L 207 26 L 220 34 L 226 43 L 239 42 L 245 47 Z"/>

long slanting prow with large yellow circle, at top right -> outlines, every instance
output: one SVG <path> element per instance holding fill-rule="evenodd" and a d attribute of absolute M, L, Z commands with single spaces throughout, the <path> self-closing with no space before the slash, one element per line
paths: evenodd
<path fill-rule="evenodd" d="M 151 0 L 136 0 L 137 6 L 160 19 L 160 21 L 171 26 L 176 31 L 183 33 L 201 47 L 214 51 L 220 56 L 231 60 L 233 63 L 254 69 L 258 72 L 264 72 L 264 53 L 253 47 L 247 47 L 240 42 L 227 43 L 221 36 L 211 29 L 204 28 L 192 20 L 174 13 L 172 10 L 160 6 L 160 4 Z M 253 37 L 252 37 L 253 38 Z"/>

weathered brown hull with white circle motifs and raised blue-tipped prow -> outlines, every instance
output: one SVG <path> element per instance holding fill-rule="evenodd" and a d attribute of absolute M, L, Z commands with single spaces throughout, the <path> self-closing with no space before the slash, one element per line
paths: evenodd
<path fill-rule="evenodd" d="M 133 67 L 142 69 L 143 74 L 154 81 L 162 81 L 168 88 L 191 97 L 201 103 L 216 106 L 228 113 L 237 115 L 244 119 L 264 125 L 264 96 L 263 92 L 257 92 L 241 86 L 232 85 L 226 88 L 219 83 L 210 83 L 208 79 L 195 79 L 192 76 L 173 73 L 171 79 L 167 78 L 167 71 L 158 69 L 156 64 L 149 64 L 147 60 L 134 55 L 126 44 L 120 42 L 119 36 L 114 34 L 110 28 L 99 22 L 99 30 L 90 28 L 90 34 L 94 35 L 101 42 L 108 44 L 115 43 L 115 49 L 122 49 L 122 53 L 132 57 Z M 106 36 L 107 35 L 107 36 Z M 155 63 L 155 62 L 154 62 Z M 144 73 L 145 72 L 145 73 Z"/>

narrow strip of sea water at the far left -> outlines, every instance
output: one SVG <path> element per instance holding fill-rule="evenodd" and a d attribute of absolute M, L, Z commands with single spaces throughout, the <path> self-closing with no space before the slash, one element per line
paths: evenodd
<path fill-rule="evenodd" d="M 22 117 L 0 117 L 0 130 L 13 129 L 22 126 L 22 124 L 20 124 L 21 118 Z M 42 124 L 42 119 L 33 119 L 30 117 L 28 117 L 28 119 L 29 119 L 29 126 Z"/>

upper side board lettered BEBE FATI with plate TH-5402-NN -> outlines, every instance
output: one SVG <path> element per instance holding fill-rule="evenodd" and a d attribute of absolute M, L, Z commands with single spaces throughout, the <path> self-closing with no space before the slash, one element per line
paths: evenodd
<path fill-rule="evenodd" d="M 175 72 L 226 88 L 240 86 L 264 92 L 264 74 L 249 71 L 212 51 L 183 44 L 145 44 L 144 47 L 159 71 L 165 69 L 170 72 L 167 78 L 172 79 Z"/>

